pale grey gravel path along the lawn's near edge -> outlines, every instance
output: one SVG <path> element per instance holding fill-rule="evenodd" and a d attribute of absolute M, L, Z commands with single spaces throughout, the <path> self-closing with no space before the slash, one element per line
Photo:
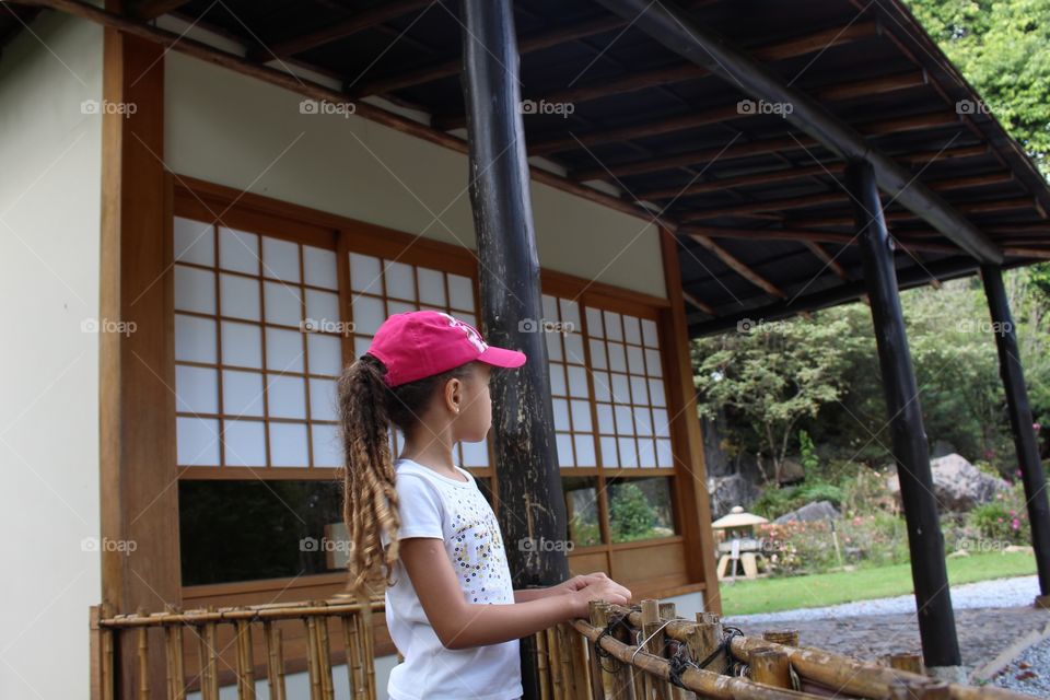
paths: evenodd
<path fill-rule="evenodd" d="M 1039 594 L 1036 576 L 995 579 L 978 583 L 952 586 L 952 607 L 956 610 L 970 608 L 1008 608 L 1031 605 Z M 789 620 L 819 620 L 826 618 L 861 617 L 866 615 L 896 615 L 915 611 L 915 596 L 901 595 L 892 598 L 876 598 L 858 603 L 844 603 L 822 608 L 804 608 L 760 615 L 737 615 L 726 619 L 730 625 L 747 622 L 783 622 Z"/>

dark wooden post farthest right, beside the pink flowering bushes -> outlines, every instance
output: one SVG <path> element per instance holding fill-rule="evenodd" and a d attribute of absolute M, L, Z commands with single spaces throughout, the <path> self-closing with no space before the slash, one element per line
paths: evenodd
<path fill-rule="evenodd" d="M 1025 387 L 1025 372 L 1017 350 L 1017 334 L 1011 317 L 1006 290 L 1003 288 L 1002 270 L 993 265 L 983 265 L 981 279 L 984 280 L 984 295 L 988 296 L 988 310 L 992 316 L 992 332 L 999 349 L 999 374 L 1006 389 L 1010 427 L 1017 448 L 1025 499 L 1028 501 L 1031 547 L 1036 552 L 1036 568 L 1039 572 L 1040 595 L 1036 603 L 1050 607 L 1050 502 L 1047 501 L 1047 479 L 1039 460 L 1039 445 L 1031 422 L 1031 409 L 1028 407 L 1028 389 Z"/>

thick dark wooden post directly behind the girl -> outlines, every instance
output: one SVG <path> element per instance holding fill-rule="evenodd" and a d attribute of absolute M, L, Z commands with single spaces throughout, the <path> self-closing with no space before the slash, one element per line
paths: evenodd
<path fill-rule="evenodd" d="M 553 435 L 539 258 L 533 230 L 518 55 L 510 0 L 463 0 L 462 74 L 478 236 L 483 332 L 528 355 L 492 384 L 500 527 L 514 587 L 569 578 L 565 505 Z M 535 638 L 521 641 L 526 698 L 538 697 Z"/>

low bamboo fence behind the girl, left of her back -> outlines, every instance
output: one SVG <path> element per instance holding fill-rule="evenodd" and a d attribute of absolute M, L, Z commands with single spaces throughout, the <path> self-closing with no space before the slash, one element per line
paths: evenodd
<path fill-rule="evenodd" d="M 256 678 L 265 676 L 270 700 L 287 700 L 285 675 L 291 672 L 285 640 L 294 640 L 305 652 L 304 660 L 296 654 L 296 663 L 307 674 L 310 700 L 335 698 L 334 662 L 346 664 L 352 700 L 375 700 L 372 616 L 382 610 L 382 598 L 370 604 L 332 599 L 185 611 L 168 607 L 135 615 L 113 615 L 106 604 L 93 606 L 91 698 L 185 700 L 187 692 L 199 691 L 201 700 L 219 700 L 221 685 L 236 685 L 238 700 L 254 700 Z M 117 650 L 129 644 L 135 650 L 133 693 L 118 687 L 127 675 L 118 668 Z M 158 664 L 163 664 L 163 688 L 151 687 L 159 685 L 153 681 Z"/>

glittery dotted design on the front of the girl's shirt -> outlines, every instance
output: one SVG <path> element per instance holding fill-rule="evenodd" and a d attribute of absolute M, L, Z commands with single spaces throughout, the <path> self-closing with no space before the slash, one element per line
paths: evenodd
<path fill-rule="evenodd" d="M 480 491 L 457 495 L 452 563 L 468 603 L 504 603 L 512 590 L 500 526 Z"/>

